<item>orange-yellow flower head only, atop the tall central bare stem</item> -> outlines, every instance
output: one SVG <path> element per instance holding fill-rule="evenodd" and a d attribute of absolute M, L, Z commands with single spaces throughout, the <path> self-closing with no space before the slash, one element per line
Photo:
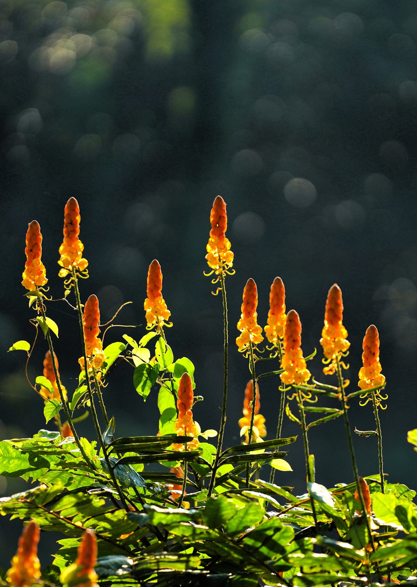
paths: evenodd
<path fill-rule="evenodd" d="M 233 266 L 234 257 L 233 252 L 230 251 L 230 241 L 226 238 L 226 203 L 220 195 L 213 202 L 210 223 L 211 230 L 206 247 L 206 259 L 210 269 L 220 275 Z"/>

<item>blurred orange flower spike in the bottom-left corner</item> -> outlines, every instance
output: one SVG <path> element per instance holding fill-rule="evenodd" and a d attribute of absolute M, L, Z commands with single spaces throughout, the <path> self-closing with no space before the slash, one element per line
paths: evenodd
<path fill-rule="evenodd" d="M 23 528 L 19 538 L 18 549 L 12 558 L 7 581 L 11 587 L 31 587 L 41 578 L 41 563 L 38 559 L 39 526 L 29 522 Z"/>

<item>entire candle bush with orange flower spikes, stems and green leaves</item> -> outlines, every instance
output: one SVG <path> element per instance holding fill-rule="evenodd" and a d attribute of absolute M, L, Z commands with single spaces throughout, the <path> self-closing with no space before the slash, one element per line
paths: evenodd
<path fill-rule="evenodd" d="M 206 275 L 211 276 L 212 293 L 221 294 L 224 318 L 218 432 L 201 431 L 194 420 L 193 405 L 201 399 L 194 396 L 198 374 L 191 360 L 176 359 L 169 345 L 171 313 L 156 259 L 149 266 L 144 301 L 147 332 L 136 337 L 139 340 L 123 334 L 123 342 L 103 345 L 103 329 L 112 321 L 100 321 L 95 295 L 83 301 L 80 294 L 89 264 L 83 257 L 75 198 L 65 205 L 58 263 L 65 288 L 61 299 L 79 320 L 80 374 L 78 387 L 65 389 L 53 350 L 58 325 L 48 315 L 57 300 L 49 297 L 46 287 L 41 228 L 36 221 L 29 224 L 22 285 L 33 309 L 34 337 L 32 343 L 19 340 L 10 350 L 27 353 L 27 374 L 35 344 L 45 346 L 43 375 L 28 381 L 45 403 L 46 424 L 53 426 L 33 438 L 0 442 L 0 474 L 34 483 L 29 490 L 0 500 L 0 514 L 28 521 L 11 568 L 0 573 L 4 585 L 345 587 L 417 581 L 415 491 L 384 477 L 378 411 L 384 409 L 387 396 L 378 330 L 374 325 L 366 330 L 359 389 L 348 393 L 343 373 L 350 343 L 343 325 L 342 292 L 334 284 L 320 344 L 324 375 L 334 376 L 335 384 L 318 381 L 308 369 L 316 351 L 304 357 L 300 316 L 285 307 L 282 279 L 275 278 L 271 285 L 263 329 L 257 304 L 264 292 L 260 294 L 250 278 L 237 324 L 237 348 L 229 345 L 226 281 L 234 275 L 233 252 L 226 237 L 226 204 L 220 196 L 214 200 L 210 222 Z M 248 359 L 249 381 L 242 393 L 244 417 L 236 414 L 241 444 L 226 447 L 228 353 L 236 350 Z M 262 368 L 265 361 L 271 362 L 271 370 Z M 111 387 L 106 392 L 105 388 L 122 362 L 132 367 L 133 388 L 143 400 L 149 393 L 158 394 L 155 436 L 116 436 L 116 422 L 107 414 L 104 398 L 111 393 Z M 42 365 L 38 369 L 41 372 Z M 264 377 L 274 377 L 280 392 L 274 414 L 277 432 L 269 439 L 260 413 Z M 221 390 L 213 393 L 221 399 Z M 371 402 L 374 409 L 376 430 L 355 432 L 378 438 L 379 474 L 359 476 L 348 417 L 349 404 L 358 398 L 362 405 Z M 80 437 L 76 429 L 88 413 L 96 430 L 91 440 Z M 285 415 L 301 429 L 304 495 L 294 495 L 292 487 L 281 484 L 290 475 L 283 471 L 291 471 L 285 456 L 297 441 L 297 436 L 281 435 Z M 344 423 L 354 483 L 325 488 L 315 479 L 308 436 L 315 426 L 337 418 Z M 271 420 L 268 416 L 267 426 Z M 408 440 L 417 446 L 417 430 Z M 63 535 L 45 569 L 37 556 L 40 531 Z"/>

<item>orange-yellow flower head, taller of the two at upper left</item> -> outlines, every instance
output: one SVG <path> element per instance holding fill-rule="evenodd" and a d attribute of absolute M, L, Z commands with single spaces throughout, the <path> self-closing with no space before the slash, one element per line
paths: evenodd
<path fill-rule="evenodd" d="M 82 258 L 84 245 L 78 238 L 80 220 L 78 201 L 75 198 L 69 198 L 64 210 L 63 242 L 59 247 L 58 264 L 62 267 L 59 271 L 60 277 L 66 277 L 72 269 L 84 271 L 88 266 L 87 259 Z"/>

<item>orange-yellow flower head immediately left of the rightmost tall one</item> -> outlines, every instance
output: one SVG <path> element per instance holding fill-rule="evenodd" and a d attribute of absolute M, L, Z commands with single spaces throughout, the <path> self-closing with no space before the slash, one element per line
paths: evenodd
<path fill-rule="evenodd" d="M 337 284 L 329 289 L 324 313 L 324 327 L 321 332 L 320 344 L 323 353 L 329 361 L 329 366 L 324 367 L 325 375 L 332 375 L 336 370 L 336 361 L 339 353 L 345 353 L 351 343 L 347 340 L 348 332 L 343 323 L 342 292 Z"/>

